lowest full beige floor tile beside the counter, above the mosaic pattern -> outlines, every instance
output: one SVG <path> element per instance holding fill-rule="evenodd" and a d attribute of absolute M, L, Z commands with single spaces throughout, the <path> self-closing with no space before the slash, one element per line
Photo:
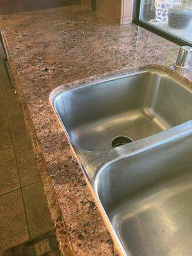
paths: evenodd
<path fill-rule="evenodd" d="M 37 237 L 52 230 L 42 184 L 36 182 L 23 188 L 31 237 Z"/>

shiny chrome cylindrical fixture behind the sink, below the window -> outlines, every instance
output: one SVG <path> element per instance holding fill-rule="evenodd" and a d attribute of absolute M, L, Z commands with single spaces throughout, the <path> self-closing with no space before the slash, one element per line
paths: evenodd
<path fill-rule="evenodd" d="M 192 47 L 188 45 L 184 45 L 180 47 L 175 66 L 178 68 L 187 68 L 189 65 L 189 61 L 191 60 L 191 56 L 192 56 Z"/>

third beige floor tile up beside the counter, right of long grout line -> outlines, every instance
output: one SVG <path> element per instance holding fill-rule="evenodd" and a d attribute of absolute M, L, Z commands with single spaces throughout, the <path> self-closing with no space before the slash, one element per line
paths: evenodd
<path fill-rule="evenodd" d="M 14 145 L 29 141 L 22 113 L 10 115 L 10 128 Z"/>

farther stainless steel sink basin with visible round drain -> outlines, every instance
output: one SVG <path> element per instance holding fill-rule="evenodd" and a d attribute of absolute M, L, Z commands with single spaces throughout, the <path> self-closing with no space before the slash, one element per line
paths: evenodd
<path fill-rule="evenodd" d="M 104 151 L 188 121 L 192 93 L 172 77 L 148 70 L 60 93 L 54 108 L 74 146 Z"/>

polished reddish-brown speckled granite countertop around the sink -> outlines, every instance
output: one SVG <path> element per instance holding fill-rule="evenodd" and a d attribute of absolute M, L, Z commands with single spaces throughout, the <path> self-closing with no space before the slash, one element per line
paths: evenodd
<path fill-rule="evenodd" d="M 145 67 L 170 72 L 179 46 L 134 24 L 118 26 L 85 6 L 1 16 L 1 33 L 63 255 L 120 255 L 49 95 Z M 192 86 L 191 86 L 192 88 Z"/>

